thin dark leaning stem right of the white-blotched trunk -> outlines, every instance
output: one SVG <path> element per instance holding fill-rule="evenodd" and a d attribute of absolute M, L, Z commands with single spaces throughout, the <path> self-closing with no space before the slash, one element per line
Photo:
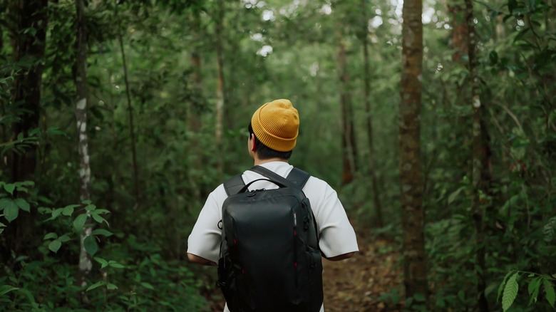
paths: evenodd
<path fill-rule="evenodd" d="M 133 123 L 133 106 L 131 105 L 131 89 L 128 78 L 128 63 L 125 60 L 125 49 L 123 48 L 122 36 L 122 21 L 118 14 L 118 4 L 115 5 L 115 18 L 118 22 L 118 43 L 120 43 L 120 53 L 122 55 L 123 63 L 123 80 L 125 83 L 125 95 L 128 99 L 128 118 L 129 118 L 129 132 L 131 138 L 131 159 L 133 161 L 133 195 L 135 196 L 135 205 L 133 209 L 137 209 L 137 204 L 140 202 L 139 198 L 139 167 L 137 165 L 137 147 L 135 146 L 135 126 Z"/>

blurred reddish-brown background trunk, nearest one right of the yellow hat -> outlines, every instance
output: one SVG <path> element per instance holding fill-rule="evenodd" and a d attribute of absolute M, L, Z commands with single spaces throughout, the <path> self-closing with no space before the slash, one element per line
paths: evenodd
<path fill-rule="evenodd" d="M 349 93 L 349 73 L 347 69 L 346 45 L 338 35 L 338 78 L 340 82 L 341 106 L 341 150 L 343 173 L 341 184 L 349 184 L 354 180 L 356 170 L 356 143 L 354 131 L 353 109 Z"/>

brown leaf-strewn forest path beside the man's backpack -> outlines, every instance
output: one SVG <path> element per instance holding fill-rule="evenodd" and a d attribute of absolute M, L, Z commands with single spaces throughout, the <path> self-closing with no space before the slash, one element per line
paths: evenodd
<path fill-rule="evenodd" d="M 361 228 L 359 228 L 361 229 Z M 359 252 L 343 261 L 323 259 L 326 312 L 401 311 L 403 289 L 399 254 L 390 239 L 356 229 Z M 211 311 L 223 310 L 220 289 L 205 293 Z"/>

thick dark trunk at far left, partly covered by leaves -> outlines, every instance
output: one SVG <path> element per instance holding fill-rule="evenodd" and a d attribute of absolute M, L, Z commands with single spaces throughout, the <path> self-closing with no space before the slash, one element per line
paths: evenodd
<path fill-rule="evenodd" d="M 16 16 L 14 19 L 14 33 L 10 33 L 12 51 L 16 63 L 20 63 L 22 71 L 14 80 L 13 98 L 7 105 L 18 105 L 19 121 L 11 125 L 11 140 L 21 133 L 29 137 L 29 132 L 38 128 L 41 110 L 41 83 L 43 73 L 43 58 L 46 46 L 46 27 L 48 22 L 48 1 L 46 0 L 14 0 L 9 1 L 6 6 L 9 14 Z M 34 31 L 30 31 L 34 29 Z M 8 155 L 11 168 L 11 182 L 24 180 L 36 180 L 37 147 L 31 145 L 18 154 L 11 152 Z M 5 263 L 13 261 L 12 252 L 16 255 L 27 254 L 27 246 L 33 245 L 29 238 L 35 237 L 36 210 L 31 214 L 19 214 L 9 227 L 6 228 L 4 236 L 11 237 L 6 246 L 0 246 L 1 259 Z M 32 246 L 29 251 L 36 251 Z"/>

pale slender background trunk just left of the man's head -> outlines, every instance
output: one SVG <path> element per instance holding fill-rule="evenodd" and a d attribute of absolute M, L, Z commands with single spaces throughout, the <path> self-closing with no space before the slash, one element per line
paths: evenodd
<path fill-rule="evenodd" d="M 216 19 L 216 57 L 217 57 L 217 85 L 216 85 L 216 131 L 215 131 L 215 144 L 217 146 L 217 170 L 222 176 L 224 173 L 224 159 L 223 153 L 223 140 L 222 129 L 224 119 L 224 61 L 222 47 L 222 31 L 224 31 L 224 1 L 218 0 L 218 14 Z"/>

